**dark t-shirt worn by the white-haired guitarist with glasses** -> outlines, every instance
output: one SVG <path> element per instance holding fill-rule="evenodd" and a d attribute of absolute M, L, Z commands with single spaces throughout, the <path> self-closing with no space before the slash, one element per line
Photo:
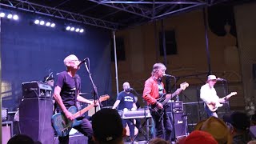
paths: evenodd
<path fill-rule="evenodd" d="M 81 78 L 78 74 L 75 74 L 73 78 L 66 71 L 62 71 L 58 74 L 56 86 L 62 88 L 61 97 L 64 106 L 66 106 L 67 109 L 70 106 L 75 106 L 76 90 L 81 90 Z M 61 110 L 59 106 L 57 107 L 57 110 Z"/>

